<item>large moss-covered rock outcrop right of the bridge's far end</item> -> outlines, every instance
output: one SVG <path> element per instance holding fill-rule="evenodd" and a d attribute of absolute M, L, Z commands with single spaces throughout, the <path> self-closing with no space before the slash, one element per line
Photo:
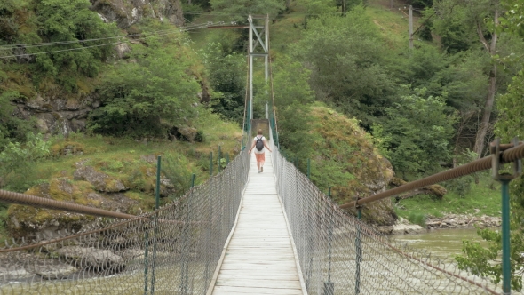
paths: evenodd
<path fill-rule="evenodd" d="M 312 107 L 315 118 L 312 179 L 322 189 L 331 187 L 332 199 L 343 204 L 385 191 L 393 168 L 373 147 L 371 136 L 356 119 L 349 119 L 322 105 Z M 349 210 L 356 213 L 356 210 Z M 371 224 L 392 225 L 396 219 L 391 200 L 365 204 L 362 219 Z"/>

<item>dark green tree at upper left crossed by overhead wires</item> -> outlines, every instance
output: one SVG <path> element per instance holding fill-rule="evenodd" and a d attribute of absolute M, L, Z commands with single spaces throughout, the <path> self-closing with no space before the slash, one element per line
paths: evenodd
<path fill-rule="evenodd" d="M 36 56 L 36 64 L 44 69 L 44 73 L 52 76 L 62 74 L 60 78 L 67 87 L 75 87 L 67 79 L 67 76 L 71 73 L 79 72 L 91 77 L 98 75 L 100 61 L 105 60 L 113 50 L 113 45 L 97 46 L 107 44 L 107 40 L 75 42 L 117 35 L 115 24 L 105 24 L 96 12 L 89 9 L 90 6 L 91 3 L 88 0 L 41 0 L 36 4 L 38 32 L 42 41 L 71 43 L 44 46 L 42 49 L 28 49 L 29 52 L 90 47 L 83 50 L 54 52 Z"/>

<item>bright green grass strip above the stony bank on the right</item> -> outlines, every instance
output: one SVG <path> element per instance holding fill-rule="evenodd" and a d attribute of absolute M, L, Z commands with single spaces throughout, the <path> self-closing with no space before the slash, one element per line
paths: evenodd
<path fill-rule="evenodd" d="M 488 174 L 481 174 L 480 183 L 478 185 L 473 183 L 471 191 L 464 196 L 449 192 L 438 200 L 431 195 L 416 195 L 394 203 L 394 208 L 398 216 L 409 219 L 412 223 L 418 223 L 419 216 L 442 217 L 446 214 L 500 216 L 500 185 L 490 179 Z"/>

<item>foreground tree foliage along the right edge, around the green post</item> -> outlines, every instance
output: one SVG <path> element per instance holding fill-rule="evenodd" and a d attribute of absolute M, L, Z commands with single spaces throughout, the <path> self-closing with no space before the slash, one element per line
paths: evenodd
<path fill-rule="evenodd" d="M 524 19 L 524 10 L 518 1 L 506 0 L 503 2 L 505 7 L 511 7 L 513 11 L 508 10 L 503 18 L 505 21 L 502 31 L 506 31 L 513 36 L 524 36 L 524 32 L 520 30 L 519 23 Z M 513 61 L 514 63 L 515 61 Z M 520 61 L 518 63 L 520 68 L 524 68 L 524 64 Z M 513 77 L 512 84 L 508 87 L 508 91 L 502 95 L 497 103 L 500 112 L 499 119 L 496 123 L 495 133 L 502 138 L 503 142 L 509 142 L 513 137 L 517 136 L 520 139 L 524 138 L 524 119 L 522 113 L 524 112 L 524 100 L 522 100 L 522 93 L 524 93 L 524 70 Z M 524 267 L 524 259 L 522 252 L 524 252 L 524 228 L 522 227 L 522 220 L 524 220 L 524 176 L 513 179 L 510 183 L 510 259 L 512 261 L 511 284 L 514 291 L 522 290 L 522 274 L 521 269 Z M 499 283 L 502 277 L 502 265 L 500 264 L 500 251 L 502 250 L 502 236 L 500 231 L 491 229 L 477 230 L 480 237 L 488 242 L 488 247 L 483 247 L 480 243 L 473 243 L 471 241 L 463 242 L 463 253 L 457 256 L 458 266 L 462 269 L 467 269 L 474 275 L 488 276 L 494 283 Z"/>

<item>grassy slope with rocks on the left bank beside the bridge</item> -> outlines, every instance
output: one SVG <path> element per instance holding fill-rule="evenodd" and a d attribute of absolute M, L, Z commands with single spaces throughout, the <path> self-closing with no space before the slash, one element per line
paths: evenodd
<path fill-rule="evenodd" d="M 96 171 L 107 174 L 107 187 L 115 189 L 117 181 L 123 183 L 128 190 L 122 194 L 131 200 L 129 213 L 138 214 L 143 211 L 152 211 L 155 204 L 155 179 L 156 179 L 156 157 L 162 156 L 162 175 L 171 179 L 174 192 L 169 197 L 162 199 L 162 203 L 169 203 L 173 198 L 183 195 L 189 187 L 191 174 L 195 173 L 195 185 L 210 178 L 209 164 L 210 152 L 213 152 L 214 173 L 218 159 L 218 147 L 222 151 L 222 157 L 226 153 L 230 160 L 240 151 L 240 139 L 242 130 L 232 122 L 225 122 L 217 115 L 211 114 L 210 110 L 199 109 L 199 117 L 193 122 L 193 126 L 202 132 L 202 142 L 188 142 L 182 140 L 133 140 L 125 138 L 103 137 L 99 135 L 88 136 L 82 133 L 72 133 L 68 138 L 55 138 L 52 145 L 52 155 L 49 159 L 38 163 L 32 163 L 28 173 L 6 178 L 6 188 L 12 187 L 15 181 L 23 182 L 23 189 L 30 188 L 28 194 L 48 194 L 53 199 L 62 201 L 74 201 L 84 205 L 100 206 L 101 201 L 97 198 L 88 198 L 90 193 L 100 194 L 96 187 L 83 180 L 75 180 L 74 175 L 77 163 L 85 163 L 92 166 Z M 75 152 L 64 153 L 64 148 Z M 9 181 L 12 181 L 10 183 Z M 49 191 L 44 192 L 44 187 L 31 187 L 36 184 L 49 183 Z M 102 194 L 103 197 L 111 199 L 111 194 Z M 123 201 L 118 201 L 123 202 Z M 23 207 L 23 206 L 22 206 Z M 0 207 L 3 208 L 3 207 Z M 14 214 L 20 220 L 44 220 L 52 218 L 48 211 L 26 211 L 20 209 L 20 205 L 11 205 L 9 214 Z M 4 219 L 7 218 L 8 210 L 0 211 L 0 243 L 7 237 Z M 13 215 L 13 216 L 14 216 Z"/>

